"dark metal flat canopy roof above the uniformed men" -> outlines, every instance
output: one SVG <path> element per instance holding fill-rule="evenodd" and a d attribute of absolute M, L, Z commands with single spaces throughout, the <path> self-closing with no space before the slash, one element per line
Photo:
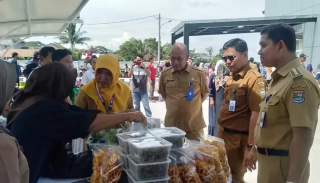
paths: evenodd
<path fill-rule="evenodd" d="M 271 23 L 286 23 L 295 26 L 307 22 L 316 22 L 316 16 L 306 15 L 183 21 L 174 27 L 171 32 L 172 39 L 176 40 L 181 38 L 185 34 L 185 31 L 188 32 L 188 36 L 258 33 L 264 26 Z"/>

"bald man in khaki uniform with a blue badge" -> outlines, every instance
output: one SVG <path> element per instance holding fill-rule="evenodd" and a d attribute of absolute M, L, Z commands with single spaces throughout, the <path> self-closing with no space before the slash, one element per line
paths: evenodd
<path fill-rule="evenodd" d="M 162 70 L 158 93 L 165 100 L 164 126 L 175 126 L 186 132 L 186 137 L 199 140 L 205 122 L 202 102 L 209 89 L 201 69 L 187 64 L 186 46 L 176 43 L 171 48 L 171 67 Z"/>

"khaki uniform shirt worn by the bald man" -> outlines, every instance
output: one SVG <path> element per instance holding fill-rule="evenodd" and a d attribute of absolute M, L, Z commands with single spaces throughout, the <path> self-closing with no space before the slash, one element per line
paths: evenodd
<path fill-rule="evenodd" d="M 192 86 L 189 86 L 190 81 Z M 193 89 L 191 101 L 186 100 L 188 89 Z M 175 126 L 186 132 L 205 127 L 201 96 L 209 93 L 209 89 L 206 75 L 201 69 L 187 65 L 180 74 L 172 67 L 163 69 L 158 93 L 165 96 L 164 126 Z"/>

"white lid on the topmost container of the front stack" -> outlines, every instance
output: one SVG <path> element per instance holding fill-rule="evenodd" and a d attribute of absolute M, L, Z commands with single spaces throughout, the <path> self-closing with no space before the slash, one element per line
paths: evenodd
<path fill-rule="evenodd" d="M 172 143 L 160 137 L 144 137 L 138 139 L 130 139 L 128 140 L 128 142 L 138 149 L 172 146 Z"/>

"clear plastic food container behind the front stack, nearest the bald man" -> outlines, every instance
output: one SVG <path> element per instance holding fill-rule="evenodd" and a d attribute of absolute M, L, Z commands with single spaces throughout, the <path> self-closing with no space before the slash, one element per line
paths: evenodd
<path fill-rule="evenodd" d="M 149 131 L 164 140 L 172 143 L 172 148 L 181 148 L 184 143 L 185 132 L 176 127 L 154 128 Z"/>

